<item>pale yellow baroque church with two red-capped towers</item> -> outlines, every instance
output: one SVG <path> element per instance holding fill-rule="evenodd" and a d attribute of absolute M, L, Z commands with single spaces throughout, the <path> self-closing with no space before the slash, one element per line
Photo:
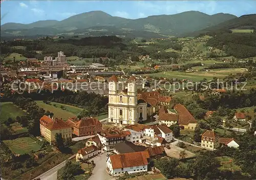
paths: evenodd
<path fill-rule="evenodd" d="M 137 85 L 134 76 L 127 80 L 127 89 L 118 91 L 118 79 L 109 79 L 109 122 L 136 124 L 147 119 L 147 103 L 137 98 Z"/>

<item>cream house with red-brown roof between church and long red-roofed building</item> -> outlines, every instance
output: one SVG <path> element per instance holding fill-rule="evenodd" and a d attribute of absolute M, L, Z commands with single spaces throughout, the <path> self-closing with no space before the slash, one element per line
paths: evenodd
<path fill-rule="evenodd" d="M 176 113 L 169 112 L 165 106 L 161 106 L 158 110 L 159 124 L 165 124 L 170 127 L 172 124 L 177 124 L 178 115 Z"/>

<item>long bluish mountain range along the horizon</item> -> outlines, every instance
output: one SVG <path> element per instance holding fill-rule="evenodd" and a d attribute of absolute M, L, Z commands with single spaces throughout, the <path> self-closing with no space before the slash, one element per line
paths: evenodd
<path fill-rule="evenodd" d="M 91 11 L 77 14 L 61 21 L 44 20 L 28 25 L 7 23 L 1 26 L 1 32 L 18 36 L 27 35 L 28 32 L 32 33 L 31 35 L 42 35 L 41 33 L 44 33 L 44 35 L 57 35 L 61 33 L 77 33 L 77 31 L 82 33 L 83 30 L 88 28 L 110 26 L 112 31 L 113 27 L 115 27 L 118 32 L 133 33 L 147 31 L 159 35 L 179 36 L 184 33 L 216 26 L 233 18 L 237 18 L 237 16 L 223 13 L 208 15 L 199 11 L 187 11 L 174 15 L 154 15 L 139 19 L 126 19 L 111 16 L 102 11 Z M 40 28 L 42 29 L 40 30 Z M 47 28 L 50 29 L 47 30 Z M 49 32 L 50 34 L 48 34 Z M 108 31 L 106 34 L 110 33 L 112 32 Z"/>

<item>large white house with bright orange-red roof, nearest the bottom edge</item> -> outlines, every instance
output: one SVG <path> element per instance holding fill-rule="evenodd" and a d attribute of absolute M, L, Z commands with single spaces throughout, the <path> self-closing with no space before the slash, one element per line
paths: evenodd
<path fill-rule="evenodd" d="M 112 176 L 146 172 L 149 158 L 147 151 L 110 155 L 106 167 Z"/>

